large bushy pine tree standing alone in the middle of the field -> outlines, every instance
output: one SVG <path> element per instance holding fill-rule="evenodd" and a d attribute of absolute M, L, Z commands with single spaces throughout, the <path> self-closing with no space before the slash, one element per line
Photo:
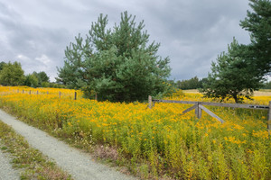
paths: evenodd
<path fill-rule="evenodd" d="M 149 43 L 144 27 L 125 12 L 119 25 L 107 29 L 107 15 L 100 14 L 86 40 L 79 35 L 65 50 L 58 82 L 81 88 L 87 96 L 95 92 L 98 100 L 144 101 L 147 95 L 164 93 L 169 58 L 156 54 L 160 44 Z"/>

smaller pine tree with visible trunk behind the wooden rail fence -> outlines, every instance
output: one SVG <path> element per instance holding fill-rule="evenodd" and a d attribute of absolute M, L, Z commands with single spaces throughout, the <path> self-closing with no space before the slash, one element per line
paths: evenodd
<path fill-rule="evenodd" d="M 239 45 L 234 39 L 228 53 L 221 53 L 217 63 L 212 62 L 211 73 L 201 93 L 206 97 L 220 98 L 221 101 L 234 98 L 236 103 L 241 103 L 244 97 L 250 98 L 260 86 L 260 77 L 248 70 L 250 67 L 244 58 L 248 54 L 248 47 Z"/>

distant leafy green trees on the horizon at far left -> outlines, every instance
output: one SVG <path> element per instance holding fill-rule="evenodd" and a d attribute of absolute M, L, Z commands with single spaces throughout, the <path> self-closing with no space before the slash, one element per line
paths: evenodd
<path fill-rule="evenodd" d="M 31 87 L 62 87 L 51 83 L 49 76 L 44 71 L 39 73 L 33 72 L 32 74 L 24 75 L 21 64 L 17 61 L 0 62 L 0 84 L 1 85 L 27 85 Z"/>

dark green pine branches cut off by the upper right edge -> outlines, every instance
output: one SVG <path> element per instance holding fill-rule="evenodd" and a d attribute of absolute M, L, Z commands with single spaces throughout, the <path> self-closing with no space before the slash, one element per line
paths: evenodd
<path fill-rule="evenodd" d="M 240 26 L 249 31 L 251 44 L 248 46 L 251 58 L 250 71 L 264 76 L 271 70 L 271 2 L 270 0 L 250 0 L 252 12 L 241 21 Z"/>

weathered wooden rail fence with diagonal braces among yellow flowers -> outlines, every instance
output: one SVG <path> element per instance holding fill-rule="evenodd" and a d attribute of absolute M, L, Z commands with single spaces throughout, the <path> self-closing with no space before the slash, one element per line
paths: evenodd
<path fill-rule="evenodd" d="M 258 104 L 239 104 L 239 103 L 208 103 L 208 102 L 192 102 L 192 101 L 173 101 L 173 100 L 158 100 L 158 99 L 153 99 L 151 95 L 149 95 L 148 98 L 149 105 L 148 107 L 151 109 L 155 103 L 187 103 L 187 104 L 194 104 L 192 107 L 184 110 L 182 112 L 190 112 L 192 110 L 195 110 L 196 117 L 198 119 L 201 119 L 201 112 L 202 110 L 204 112 L 207 112 L 211 117 L 216 118 L 218 121 L 223 123 L 224 121 L 215 113 L 211 112 L 209 109 L 204 107 L 203 105 L 211 105 L 211 106 L 220 106 L 220 107 L 232 107 L 232 108 L 245 108 L 245 109 L 257 109 L 257 110 L 267 110 L 268 115 L 267 115 L 267 130 L 271 130 L 271 101 L 269 102 L 269 105 L 258 105 Z"/>

